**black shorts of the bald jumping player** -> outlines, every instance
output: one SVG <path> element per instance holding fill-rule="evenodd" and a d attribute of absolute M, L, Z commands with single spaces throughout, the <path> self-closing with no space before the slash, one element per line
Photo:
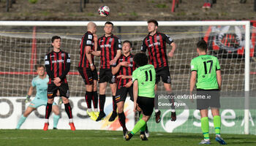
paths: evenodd
<path fill-rule="evenodd" d="M 94 82 L 93 82 L 93 72 L 91 72 L 91 69 L 88 69 L 86 67 L 78 67 L 78 72 L 83 77 L 83 82 L 86 85 L 93 85 L 94 84 Z"/>

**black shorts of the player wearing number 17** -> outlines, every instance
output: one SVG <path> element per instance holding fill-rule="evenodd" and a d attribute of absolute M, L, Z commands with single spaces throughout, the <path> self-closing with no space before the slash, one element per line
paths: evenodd
<path fill-rule="evenodd" d="M 219 96 L 219 89 L 197 89 L 197 110 L 205 110 L 208 109 L 208 107 L 219 108 Z M 205 99 L 203 99 L 203 97 L 205 97 Z"/>

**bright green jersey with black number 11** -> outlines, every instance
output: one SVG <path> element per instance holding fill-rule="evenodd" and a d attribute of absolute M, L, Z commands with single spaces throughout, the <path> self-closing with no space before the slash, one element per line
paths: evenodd
<path fill-rule="evenodd" d="M 135 80 L 138 80 L 138 96 L 154 98 L 156 71 L 153 65 L 148 64 L 135 69 L 132 72 L 132 82 Z"/>

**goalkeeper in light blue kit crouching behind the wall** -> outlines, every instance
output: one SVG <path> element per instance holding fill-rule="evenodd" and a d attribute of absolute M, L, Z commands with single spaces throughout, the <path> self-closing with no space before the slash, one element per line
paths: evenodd
<path fill-rule="evenodd" d="M 47 104 L 47 88 L 48 88 L 48 82 L 49 77 L 47 74 L 45 74 L 45 66 L 37 65 L 37 77 L 34 77 L 34 79 L 31 82 L 31 86 L 29 88 L 29 93 L 26 98 L 26 103 L 31 101 L 30 97 L 33 93 L 34 87 L 37 88 L 37 94 L 33 101 L 29 104 L 29 107 L 26 108 L 26 111 L 21 115 L 20 120 L 18 121 L 18 124 L 16 126 L 17 129 L 22 126 L 22 124 L 25 122 L 26 118 L 30 115 L 31 112 L 36 110 L 38 107 L 41 107 L 42 105 Z M 53 129 L 57 129 L 57 125 L 59 122 L 59 107 L 58 105 L 53 102 Z"/>

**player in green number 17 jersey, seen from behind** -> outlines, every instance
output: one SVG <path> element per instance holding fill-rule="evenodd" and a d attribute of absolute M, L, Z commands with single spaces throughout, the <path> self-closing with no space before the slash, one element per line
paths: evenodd
<path fill-rule="evenodd" d="M 211 144 L 209 138 L 208 107 L 214 117 L 216 141 L 221 145 L 226 142 L 220 137 L 221 120 L 219 116 L 219 90 L 222 86 L 222 77 L 218 58 L 207 55 L 207 44 L 204 40 L 197 42 L 199 56 L 191 61 L 190 93 L 197 88 L 197 110 L 200 110 L 201 128 L 204 139 L 200 144 Z M 197 81 L 196 81 L 197 79 Z M 198 99 L 198 97 L 201 97 Z"/>

